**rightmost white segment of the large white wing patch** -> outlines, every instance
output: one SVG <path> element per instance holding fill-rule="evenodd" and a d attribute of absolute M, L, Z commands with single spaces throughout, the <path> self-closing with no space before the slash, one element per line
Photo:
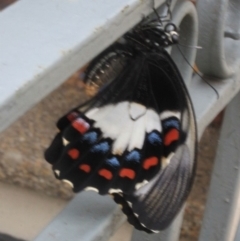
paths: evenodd
<path fill-rule="evenodd" d="M 151 109 L 148 109 L 146 112 L 146 132 L 150 133 L 153 130 L 157 130 L 159 132 L 162 131 L 162 126 L 160 122 L 159 115 Z"/>

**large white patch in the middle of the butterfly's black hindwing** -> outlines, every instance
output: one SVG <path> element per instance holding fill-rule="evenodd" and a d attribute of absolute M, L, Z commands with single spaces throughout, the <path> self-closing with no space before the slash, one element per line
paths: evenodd
<path fill-rule="evenodd" d="M 114 155 L 122 155 L 126 149 L 141 149 L 146 131 L 161 130 L 156 112 L 128 101 L 94 108 L 88 111 L 86 116 L 95 121 L 94 127 L 102 131 L 103 138 L 111 138 L 114 141 Z"/>

